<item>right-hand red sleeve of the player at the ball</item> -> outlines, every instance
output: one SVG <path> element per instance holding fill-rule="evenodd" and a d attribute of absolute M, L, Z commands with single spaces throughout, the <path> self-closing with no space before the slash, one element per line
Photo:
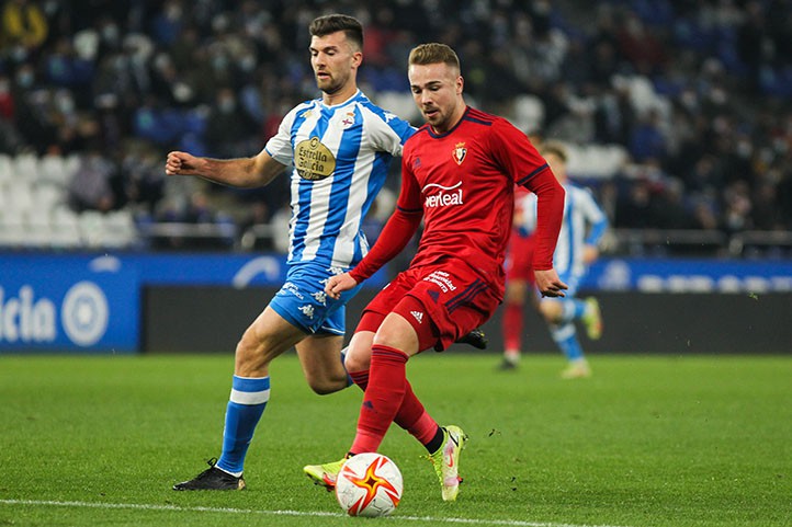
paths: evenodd
<path fill-rule="evenodd" d="M 493 126 L 490 147 L 514 183 L 536 194 L 536 245 L 533 268 L 553 268 L 553 253 L 564 218 L 564 187 L 525 134 L 508 121 Z"/>

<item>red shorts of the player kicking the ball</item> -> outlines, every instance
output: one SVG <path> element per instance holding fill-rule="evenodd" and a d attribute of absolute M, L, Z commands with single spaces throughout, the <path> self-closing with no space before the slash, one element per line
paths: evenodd
<path fill-rule="evenodd" d="M 405 297 L 410 298 L 401 302 Z M 401 307 L 416 302 L 422 306 L 422 313 L 411 308 L 401 312 Z M 358 331 L 374 331 L 371 324 L 376 318 L 371 314 L 378 314 L 382 322 L 388 313 L 398 312 L 416 328 L 420 351 L 442 351 L 489 320 L 499 303 L 500 298 L 477 273 L 463 261 L 450 257 L 399 273 L 363 310 L 361 322 L 369 323 L 359 325 Z M 433 342 L 421 339 L 427 334 L 427 323 L 431 324 Z"/>

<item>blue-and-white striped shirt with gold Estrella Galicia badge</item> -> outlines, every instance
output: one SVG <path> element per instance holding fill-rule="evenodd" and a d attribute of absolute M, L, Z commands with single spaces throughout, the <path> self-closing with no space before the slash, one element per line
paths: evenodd
<path fill-rule="evenodd" d="M 369 251 L 361 230 L 391 160 L 415 133 L 409 123 L 374 105 L 360 90 L 328 106 L 306 101 L 281 122 L 264 147 L 293 165 L 288 263 L 354 266 Z"/>

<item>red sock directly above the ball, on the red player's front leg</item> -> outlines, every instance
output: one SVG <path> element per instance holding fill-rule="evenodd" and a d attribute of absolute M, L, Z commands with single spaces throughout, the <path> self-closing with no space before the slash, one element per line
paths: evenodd
<path fill-rule="evenodd" d="M 349 451 L 375 452 L 380 448 L 407 391 L 406 365 L 407 355 L 399 350 L 380 344 L 372 346 L 369 386 L 360 408 L 358 433 Z"/>

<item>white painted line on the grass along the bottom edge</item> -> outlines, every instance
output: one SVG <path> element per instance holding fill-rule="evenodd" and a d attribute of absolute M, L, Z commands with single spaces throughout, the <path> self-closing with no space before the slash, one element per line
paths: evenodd
<path fill-rule="evenodd" d="M 50 507 L 76 508 L 131 508 L 138 511 L 180 511 L 186 513 L 226 513 L 226 514 L 260 514 L 264 516 L 317 516 L 346 518 L 342 513 L 323 513 L 320 511 L 257 511 L 253 508 L 230 507 L 182 507 L 179 505 L 152 505 L 140 503 L 93 503 L 93 502 L 56 502 L 48 500 L 0 500 L 4 505 L 38 505 Z M 556 524 L 552 522 L 522 522 L 519 519 L 474 519 L 474 518 L 439 518 L 434 516 L 391 516 L 384 519 L 407 522 L 431 522 L 462 525 L 502 525 L 507 527 L 625 527 L 615 525 Z"/>

